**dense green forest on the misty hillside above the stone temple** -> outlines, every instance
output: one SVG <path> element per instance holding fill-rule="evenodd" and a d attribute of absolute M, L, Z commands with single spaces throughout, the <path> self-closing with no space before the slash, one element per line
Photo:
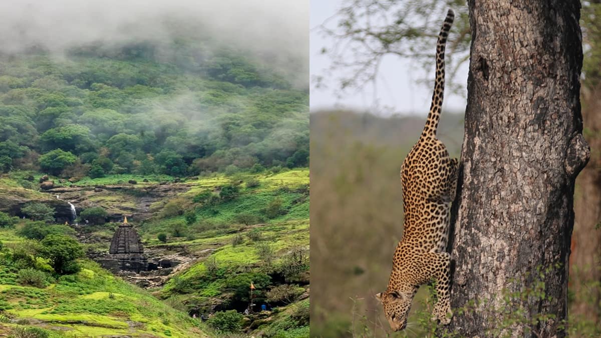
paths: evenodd
<path fill-rule="evenodd" d="M 168 51 L 0 54 L 0 171 L 78 180 L 307 166 L 306 89 L 232 46 L 174 39 Z"/>

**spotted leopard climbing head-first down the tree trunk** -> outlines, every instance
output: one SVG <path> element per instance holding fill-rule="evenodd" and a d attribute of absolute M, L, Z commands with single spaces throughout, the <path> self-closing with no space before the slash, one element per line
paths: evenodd
<path fill-rule="evenodd" d="M 436 130 L 445 85 L 445 46 L 454 17 L 453 10 L 448 10 L 438 35 L 434 92 L 424 129 L 401 165 L 403 236 L 394 251 L 388 287 L 376 295 L 394 331 L 406 327 L 419 286 L 433 281 L 437 300 L 432 320 L 448 325 L 453 317 L 451 257 L 446 248 L 459 161 L 450 158 L 447 147 L 436 137 Z"/>

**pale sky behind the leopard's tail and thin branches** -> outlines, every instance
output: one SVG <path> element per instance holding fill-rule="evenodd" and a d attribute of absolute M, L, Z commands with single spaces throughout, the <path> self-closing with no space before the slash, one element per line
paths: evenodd
<path fill-rule="evenodd" d="M 332 16 L 338 8 L 341 7 L 344 0 L 311 0 L 310 8 L 310 73 L 311 77 L 323 73 L 328 69 L 331 59 L 328 55 L 321 55 L 320 49 L 331 45 L 331 40 L 323 38 L 316 28 L 322 24 L 328 17 Z M 331 25 L 335 25 L 336 20 L 332 20 Z M 435 48 L 436 41 L 433 41 L 432 48 Z M 350 54 L 349 54 L 350 57 Z M 338 73 L 343 70 L 338 70 Z M 434 76 L 434 69 L 430 70 L 427 76 Z M 336 74 L 336 73 L 335 73 Z M 334 78 L 336 77 L 334 74 Z M 424 78 L 424 71 L 417 63 L 412 63 L 395 55 L 389 55 L 384 58 L 380 72 L 377 76 L 377 101 L 380 108 L 375 111 L 381 115 L 391 114 L 418 114 L 426 116 L 430 108 L 432 99 L 432 89 L 424 84 L 415 83 L 416 79 Z M 457 72 L 455 81 L 466 84 L 468 79 L 468 64 L 463 64 Z M 324 108 L 354 108 L 361 111 L 368 110 L 374 112 L 373 88 L 365 87 L 356 93 L 350 93 L 346 96 L 338 97 L 335 90 L 338 88 L 336 82 L 325 81 L 328 88 L 316 88 L 311 83 L 311 111 L 317 111 Z M 464 94 L 465 95 L 465 94 Z M 450 91 L 445 91 L 443 110 L 465 111 L 466 98 Z M 383 107 L 383 108 L 382 108 Z"/>

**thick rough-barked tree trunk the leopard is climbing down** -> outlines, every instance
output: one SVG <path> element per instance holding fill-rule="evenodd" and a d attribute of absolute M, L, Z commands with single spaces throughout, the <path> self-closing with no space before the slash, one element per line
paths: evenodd
<path fill-rule="evenodd" d="M 580 2 L 468 6 L 468 106 L 449 244 L 455 316 L 447 330 L 563 337 L 574 185 L 590 153 L 579 100 Z"/>

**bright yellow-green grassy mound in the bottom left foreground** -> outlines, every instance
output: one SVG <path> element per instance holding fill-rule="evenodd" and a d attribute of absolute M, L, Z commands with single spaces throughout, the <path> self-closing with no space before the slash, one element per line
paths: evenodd
<path fill-rule="evenodd" d="M 0 232 L 4 243 L 17 239 L 13 230 Z M 43 289 L 19 286 L 17 269 L 0 268 L 0 310 L 19 324 L 57 330 L 65 337 L 205 336 L 186 313 L 115 278 L 90 260 L 83 264 L 77 275 L 61 277 Z M 4 330 L 19 326 L 3 325 Z"/>

